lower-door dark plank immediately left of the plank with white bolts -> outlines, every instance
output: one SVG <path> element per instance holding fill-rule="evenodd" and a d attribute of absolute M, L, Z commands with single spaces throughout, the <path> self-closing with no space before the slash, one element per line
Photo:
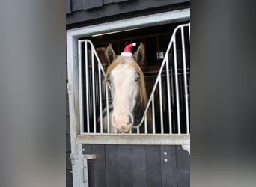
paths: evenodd
<path fill-rule="evenodd" d="M 162 185 L 160 147 L 146 146 L 146 165 L 147 165 L 147 187 Z"/>

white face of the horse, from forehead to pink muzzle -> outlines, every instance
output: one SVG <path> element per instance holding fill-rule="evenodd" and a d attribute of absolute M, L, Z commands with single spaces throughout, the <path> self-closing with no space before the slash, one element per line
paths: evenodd
<path fill-rule="evenodd" d="M 133 124 L 132 111 L 139 92 L 140 77 L 127 59 L 122 59 L 122 61 L 108 77 L 114 109 L 111 122 L 118 132 L 128 132 Z"/>

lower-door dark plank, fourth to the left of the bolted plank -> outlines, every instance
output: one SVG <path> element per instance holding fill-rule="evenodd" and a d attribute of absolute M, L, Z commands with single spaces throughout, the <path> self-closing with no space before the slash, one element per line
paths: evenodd
<path fill-rule="evenodd" d="M 118 146 L 106 145 L 106 184 L 107 186 L 118 187 Z"/>

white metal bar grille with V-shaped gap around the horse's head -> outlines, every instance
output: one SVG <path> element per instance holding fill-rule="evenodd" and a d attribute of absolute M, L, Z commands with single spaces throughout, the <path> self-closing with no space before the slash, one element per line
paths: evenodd
<path fill-rule="evenodd" d="M 174 30 L 174 34 L 172 35 L 172 37 L 171 37 L 171 40 L 170 40 L 170 43 L 169 43 L 169 45 L 168 45 L 168 49 L 167 49 L 167 52 L 166 52 L 166 54 L 165 54 L 165 58 L 164 58 L 164 61 L 163 61 L 163 63 L 162 63 L 162 66 L 160 67 L 160 70 L 159 70 L 159 75 L 156 77 L 156 83 L 155 83 L 155 85 L 153 85 L 153 91 L 152 91 L 152 93 L 151 93 L 151 95 L 150 95 L 150 99 L 149 99 L 149 101 L 148 101 L 148 104 L 147 104 L 147 107 L 146 107 L 146 110 L 144 111 L 144 115 L 143 115 L 143 119 L 141 119 L 141 123 L 143 123 L 143 121 L 144 121 L 144 125 L 145 125 L 145 132 L 147 132 L 147 119 L 145 120 L 145 118 L 147 117 L 147 111 L 148 111 L 148 109 L 149 109 L 149 107 L 150 107 L 150 105 L 154 105 L 154 98 L 153 98 L 153 94 L 154 94 L 154 92 L 156 91 L 156 86 L 159 84 L 159 102 L 160 102 L 160 123 L 161 123 L 161 133 L 164 133 L 164 128 L 163 128 L 163 117 L 162 117 L 162 115 L 163 115 L 163 97 L 162 97 L 162 70 L 163 70 L 163 68 L 164 68 L 164 66 L 165 66 L 165 63 L 167 63 L 168 62 L 168 53 L 169 53 L 169 51 L 170 51 L 170 49 L 171 49 L 171 46 L 173 45 L 174 46 L 174 79 L 175 79 L 175 91 L 176 91 L 176 105 L 177 105 L 177 126 L 178 126 L 178 133 L 180 133 L 180 98 L 179 98 L 179 93 L 180 93 L 180 91 L 179 91 L 179 79 L 178 79 L 178 72 L 177 72 L 177 49 L 176 49 L 176 39 L 175 39 L 175 37 L 176 37 L 176 33 L 177 33 L 177 30 L 178 29 L 180 29 L 180 26 L 178 26 L 177 28 L 175 28 L 175 30 Z M 190 30 L 189 30 L 190 31 Z M 87 93 L 88 94 L 90 94 L 91 95 L 91 99 L 92 99 L 92 105 L 91 105 L 91 101 L 88 99 L 88 94 L 86 94 L 86 99 L 87 99 L 87 102 L 86 102 L 86 107 L 87 108 L 89 108 L 88 107 L 88 105 L 89 106 L 91 106 L 91 110 L 87 110 L 87 121 L 88 121 L 88 124 L 90 123 L 90 121 L 88 120 L 89 119 L 89 117 L 90 117 L 90 113 L 89 112 L 93 112 L 94 114 L 93 114 L 93 119 L 94 119 L 94 132 L 96 132 L 96 129 L 97 129 L 97 126 L 96 126 L 96 124 L 97 124 L 97 119 L 96 119 L 96 112 L 95 112 L 95 108 L 96 108 L 96 98 L 95 98 L 95 93 L 96 93 L 96 90 L 95 90 L 95 84 L 94 84 L 94 79 L 95 79 L 95 74 L 94 74 L 94 64 L 95 64 L 95 57 L 97 58 L 97 60 L 98 60 L 98 64 L 99 64 L 99 69 L 98 69 L 98 72 L 99 72 L 99 88 L 100 88 L 100 85 L 102 84 L 102 81 L 101 81 L 101 73 L 100 73 L 100 71 L 102 71 L 103 72 L 103 75 L 105 76 L 105 72 L 104 72 L 104 70 L 103 70 L 103 67 L 102 67 L 102 65 L 100 64 L 100 60 L 99 60 L 99 58 L 98 58 L 98 56 L 97 56 L 97 52 L 95 51 L 95 49 L 94 49 L 94 46 L 93 46 L 93 44 L 91 43 L 91 41 L 89 41 L 89 40 L 86 40 L 86 41 L 88 41 L 88 43 L 90 43 L 91 44 L 91 60 L 92 60 L 92 75 L 91 75 L 91 77 L 92 77 L 92 86 L 91 86 L 91 88 L 92 88 L 92 91 L 90 91 L 90 93 L 88 93 L 88 89 L 85 89 L 86 91 L 87 91 Z M 87 45 L 85 45 L 85 51 L 87 51 L 88 50 L 88 46 Z M 85 70 L 85 83 L 86 83 L 86 88 L 88 88 L 88 84 L 89 84 L 89 82 L 88 82 L 88 54 L 87 54 L 87 52 L 85 52 L 85 61 L 86 61 L 86 63 L 85 63 L 85 66 L 86 66 L 86 70 Z M 167 85 L 166 85 L 166 89 L 167 89 L 167 105 L 168 105 L 168 119 L 169 119 L 169 129 L 170 129 L 170 133 L 172 134 L 173 132 L 172 132 L 172 116 L 171 116 L 171 108 L 172 108 L 172 106 L 171 106 L 171 99 L 173 99 L 172 97 L 171 97 L 171 93 L 172 93 L 172 91 L 171 91 L 171 86 L 170 86 L 170 75 L 169 75 L 169 67 L 168 67 L 168 64 L 166 64 L 166 82 L 167 82 Z M 109 119 L 109 93 L 108 93 L 108 88 L 106 88 L 106 100 L 107 100 L 107 129 L 108 129 L 108 133 L 110 133 L 111 132 L 111 126 L 110 126 L 110 124 L 109 124 L 109 121 L 110 121 L 110 119 Z M 102 92 L 101 92 L 101 89 L 100 89 L 100 94 L 99 94 L 99 97 L 100 96 L 102 96 L 103 94 L 102 94 Z M 99 99 L 99 103 L 100 103 L 100 132 L 101 133 L 103 133 L 103 112 L 102 112 L 102 110 L 103 110 L 103 105 L 102 105 L 102 103 L 101 103 L 101 101 L 102 101 L 102 98 L 101 99 Z M 153 111 L 153 113 L 152 113 L 152 117 L 153 118 L 155 118 L 154 117 L 154 115 L 155 115 L 155 111 L 154 111 L 154 109 L 152 110 Z M 140 124 L 138 124 L 138 126 L 140 126 L 141 125 L 141 123 Z M 156 127 L 156 124 L 155 124 L 155 119 L 153 119 L 153 127 L 155 128 Z M 156 129 L 155 129 L 156 130 Z M 90 132 L 90 126 L 88 126 L 88 132 Z M 139 130 L 137 131 L 137 132 L 139 132 Z"/>

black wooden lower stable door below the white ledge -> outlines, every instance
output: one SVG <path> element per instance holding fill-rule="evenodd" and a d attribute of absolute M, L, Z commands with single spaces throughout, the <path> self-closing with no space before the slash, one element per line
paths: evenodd
<path fill-rule="evenodd" d="M 181 146 L 83 145 L 90 187 L 188 187 L 189 153 Z"/>

